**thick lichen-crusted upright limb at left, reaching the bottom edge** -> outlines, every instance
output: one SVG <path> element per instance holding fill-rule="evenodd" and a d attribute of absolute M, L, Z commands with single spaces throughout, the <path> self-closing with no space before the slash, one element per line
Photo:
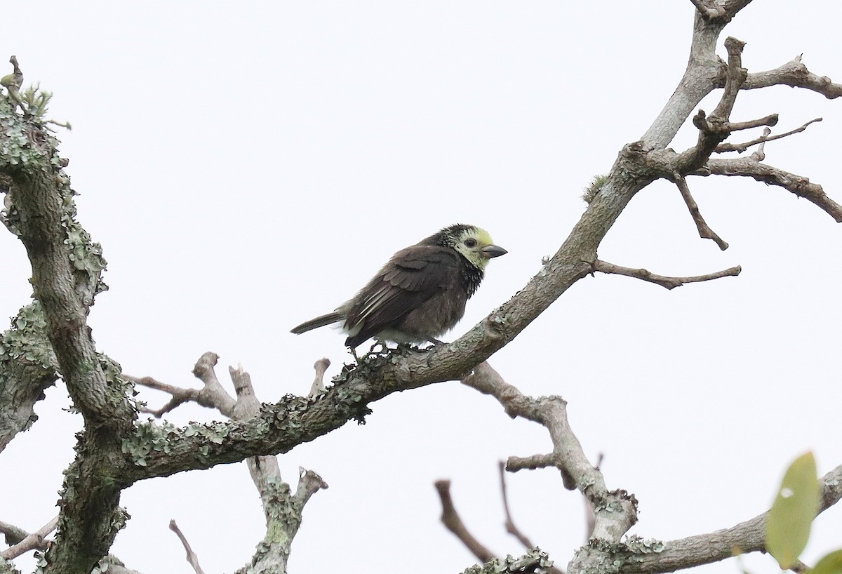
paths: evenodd
<path fill-rule="evenodd" d="M 119 367 L 99 356 L 87 326 L 93 297 L 104 289 L 99 276 L 105 263 L 99 245 L 75 219 L 57 143 L 37 118 L 18 114 L 12 101 L 0 97 L 0 173 L 13 182 L 6 219 L 26 247 L 46 336 L 86 425 L 66 472 L 50 560 L 56 571 L 87 573 L 108 553 L 125 521 L 120 487 L 109 477 L 136 411 Z"/>

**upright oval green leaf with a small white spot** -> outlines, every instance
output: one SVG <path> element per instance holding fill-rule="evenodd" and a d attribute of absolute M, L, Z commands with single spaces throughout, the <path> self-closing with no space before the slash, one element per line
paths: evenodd
<path fill-rule="evenodd" d="M 812 452 L 799 456 L 784 475 L 766 521 L 766 550 L 783 570 L 795 564 L 818 513 L 818 477 Z"/>

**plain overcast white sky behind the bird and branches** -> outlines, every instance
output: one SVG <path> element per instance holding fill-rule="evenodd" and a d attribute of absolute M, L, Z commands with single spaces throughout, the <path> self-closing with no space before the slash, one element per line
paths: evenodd
<path fill-rule="evenodd" d="M 79 220 L 109 260 L 111 290 L 90 318 L 100 350 L 131 375 L 178 385 L 195 385 L 195 360 L 215 351 L 220 377 L 242 363 L 263 401 L 306 393 L 322 356 L 331 374 L 349 359 L 337 332 L 296 337 L 290 327 L 332 310 L 392 252 L 442 226 L 483 226 L 509 250 L 452 337 L 519 290 L 578 220 L 581 189 L 662 109 L 693 17 L 690 2 L 653 0 L 18 8 L 4 21 L 0 61 L 18 56 L 26 83 L 55 93 L 51 117 L 72 122 L 59 136 Z M 748 43 L 749 71 L 803 53 L 813 72 L 840 81 L 839 10 L 757 0 L 727 34 Z M 775 88 L 741 95 L 733 119 L 775 112 L 778 132 L 824 121 L 766 146 L 767 162 L 842 201 L 842 103 Z M 694 139 L 685 126 L 673 147 Z M 586 452 L 605 453 L 608 486 L 640 500 L 632 532 L 645 538 L 754 517 L 805 449 L 821 472 L 842 462 L 842 227 L 761 183 L 690 186 L 726 252 L 696 236 L 678 191 L 658 183 L 632 201 L 600 257 L 676 275 L 741 264 L 739 278 L 674 291 L 584 279 L 491 360 L 521 391 L 569 401 Z M 29 263 L 8 233 L 0 260 L 0 316 L 13 316 L 29 298 Z M 62 407 L 58 385 L 0 455 L 0 520 L 34 530 L 56 513 L 81 424 Z M 522 552 L 502 527 L 496 465 L 548 451 L 544 429 L 456 382 L 372 407 L 364 427 L 281 458 L 287 480 L 301 465 L 330 485 L 306 507 L 290 571 L 472 565 L 438 522 L 442 477 L 478 538 Z M 170 420 L 218 417 L 183 407 Z M 565 565 L 583 543 L 578 494 L 551 470 L 509 476 L 509 494 L 520 527 Z M 145 573 L 190 572 L 170 518 L 207 572 L 242 566 L 263 534 L 245 465 L 147 481 L 122 502 L 132 519 L 113 550 Z M 818 518 L 807 561 L 842 546 L 839 532 L 834 508 Z M 775 571 L 766 557 L 749 564 Z"/>

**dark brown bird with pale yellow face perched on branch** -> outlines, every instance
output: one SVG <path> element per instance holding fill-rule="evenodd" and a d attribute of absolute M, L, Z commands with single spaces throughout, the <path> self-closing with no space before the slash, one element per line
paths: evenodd
<path fill-rule="evenodd" d="M 353 299 L 291 332 L 342 322 L 345 346 L 352 352 L 371 337 L 381 343 L 441 344 L 436 337 L 465 315 L 488 261 L 506 253 L 481 227 L 445 227 L 392 255 Z"/>

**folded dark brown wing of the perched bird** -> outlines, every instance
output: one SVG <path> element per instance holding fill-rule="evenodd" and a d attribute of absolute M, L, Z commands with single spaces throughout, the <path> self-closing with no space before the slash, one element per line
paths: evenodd
<path fill-rule="evenodd" d="M 360 326 L 354 341 L 362 343 L 451 284 L 460 256 L 452 249 L 414 245 L 395 253 L 389 263 L 354 298 L 345 325 Z M 359 344 L 357 343 L 357 344 Z"/>

